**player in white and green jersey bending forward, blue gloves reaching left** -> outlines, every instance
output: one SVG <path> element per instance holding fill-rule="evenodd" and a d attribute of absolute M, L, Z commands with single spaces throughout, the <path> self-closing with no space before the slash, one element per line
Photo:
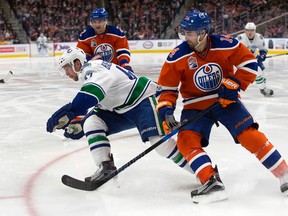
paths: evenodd
<path fill-rule="evenodd" d="M 85 178 L 85 181 L 94 181 L 97 184 L 116 170 L 107 136 L 137 127 L 142 141 L 153 144 L 164 135 L 164 130 L 155 108 L 155 82 L 146 77 L 138 77 L 110 62 L 85 61 L 85 53 L 80 48 L 70 48 L 60 57 L 59 69 L 64 70 L 68 76 L 79 73 L 84 84 L 71 103 L 49 118 L 46 129 L 51 133 L 55 129 L 68 128 L 68 134 L 70 133 L 72 138 L 79 138 L 85 133 L 90 152 L 98 167 L 95 174 Z M 69 127 L 72 119 L 85 115 L 88 109 L 93 107 L 96 107 L 96 111 L 90 111 L 82 123 L 76 127 L 72 123 L 72 127 Z M 155 150 L 193 173 L 173 138 Z"/>

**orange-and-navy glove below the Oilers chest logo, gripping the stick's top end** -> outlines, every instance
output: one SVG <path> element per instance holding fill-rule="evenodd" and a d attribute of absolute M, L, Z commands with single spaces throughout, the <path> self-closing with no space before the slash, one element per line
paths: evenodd
<path fill-rule="evenodd" d="M 225 108 L 231 103 L 236 103 L 238 92 L 240 91 L 240 81 L 234 77 L 226 77 L 222 79 L 218 90 L 219 102 Z"/>

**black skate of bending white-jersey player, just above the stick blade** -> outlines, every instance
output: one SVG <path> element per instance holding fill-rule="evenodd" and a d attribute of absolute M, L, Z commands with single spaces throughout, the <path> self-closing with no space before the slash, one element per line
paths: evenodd
<path fill-rule="evenodd" d="M 105 179 L 113 172 L 117 171 L 117 168 L 114 165 L 113 157 L 111 156 L 110 161 L 103 161 L 100 165 L 98 170 L 90 176 L 85 178 L 85 182 L 93 182 L 93 183 L 101 183 L 105 181 Z"/>

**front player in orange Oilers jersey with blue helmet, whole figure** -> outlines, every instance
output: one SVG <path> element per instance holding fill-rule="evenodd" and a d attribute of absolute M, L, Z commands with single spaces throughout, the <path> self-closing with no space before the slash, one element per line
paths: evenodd
<path fill-rule="evenodd" d="M 227 198 L 217 167 L 203 147 L 209 144 L 211 128 L 220 122 L 236 143 L 254 154 L 280 180 L 280 190 L 288 196 L 288 167 L 277 149 L 258 131 L 258 124 L 239 99 L 257 74 L 254 55 L 234 38 L 208 35 L 210 18 L 193 10 L 184 17 L 179 36 L 185 40 L 168 55 L 159 79 L 161 87 L 157 110 L 170 130 L 178 126 L 173 112 L 178 86 L 183 98 L 181 122 L 219 100 L 220 105 L 201 119 L 184 127 L 177 146 L 202 186 L 191 192 L 193 202 Z M 235 68 L 235 69 L 234 69 Z"/>

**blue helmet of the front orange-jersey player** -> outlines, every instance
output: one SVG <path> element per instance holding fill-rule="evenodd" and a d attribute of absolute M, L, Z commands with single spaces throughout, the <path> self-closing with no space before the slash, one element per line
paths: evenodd
<path fill-rule="evenodd" d="M 207 13 L 200 12 L 199 10 L 192 10 L 182 19 L 180 28 L 182 31 L 201 31 L 205 29 L 208 34 L 210 23 L 210 17 Z"/>

